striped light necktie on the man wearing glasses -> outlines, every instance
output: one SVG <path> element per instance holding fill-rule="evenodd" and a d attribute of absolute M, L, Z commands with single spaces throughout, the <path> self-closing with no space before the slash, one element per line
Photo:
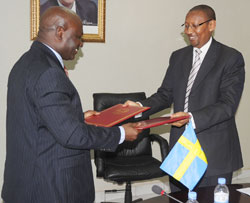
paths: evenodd
<path fill-rule="evenodd" d="M 194 84 L 194 80 L 196 78 L 196 75 L 197 75 L 197 73 L 200 69 L 200 66 L 201 66 L 200 54 L 201 54 L 201 50 L 196 49 L 194 63 L 193 63 L 192 69 L 191 69 L 191 71 L 189 73 L 189 77 L 188 77 L 186 96 L 185 96 L 185 104 L 184 104 L 184 112 L 188 112 L 188 97 L 189 97 L 189 94 L 191 92 L 192 86 Z"/>

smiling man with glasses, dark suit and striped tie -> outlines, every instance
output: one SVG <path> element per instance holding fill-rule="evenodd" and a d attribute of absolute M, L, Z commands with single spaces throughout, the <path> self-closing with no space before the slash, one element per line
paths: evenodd
<path fill-rule="evenodd" d="M 151 97 L 140 101 L 143 106 L 151 107 L 143 114 L 147 116 L 173 104 L 172 117 L 191 115 L 208 160 L 207 171 L 197 187 L 216 185 L 218 177 L 225 177 L 227 183 L 231 183 L 232 172 L 243 166 L 235 123 L 245 79 L 243 56 L 213 39 L 216 17 L 211 7 L 195 6 L 186 15 L 183 25 L 191 45 L 172 53 L 162 85 Z M 186 96 L 197 49 L 201 51 L 201 65 L 189 96 Z M 188 107 L 186 112 L 185 103 Z M 126 104 L 139 105 L 131 101 Z M 173 123 L 171 148 L 182 135 L 187 122 L 189 119 Z M 172 178 L 170 181 L 172 191 L 185 189 Z"/>

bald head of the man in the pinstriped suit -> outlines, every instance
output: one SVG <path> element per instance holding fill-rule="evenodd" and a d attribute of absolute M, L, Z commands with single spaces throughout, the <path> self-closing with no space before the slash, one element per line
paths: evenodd
<path fill-rule="evenodd" d="M 82 34 L 79 16 L 70 9 L 54 6 L 48 8 L 41 16 L 37 40 L 49 45 L 67 60 L 72 59 L 72 56 L 65 55 L 65 47 L 69 43 L 72 45 L 71 41 L 74 41 L 78 50 L 82 46 Z"/>

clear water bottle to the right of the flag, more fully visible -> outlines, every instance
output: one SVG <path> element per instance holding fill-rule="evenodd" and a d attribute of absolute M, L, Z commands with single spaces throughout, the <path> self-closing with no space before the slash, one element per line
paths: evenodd
<path fill-rule="evenodd" d="M 214 189 L 214 203 L 229 203 L 229 190 L 225 184 L 225 178 L 218 178 L 218 185 Z"/>

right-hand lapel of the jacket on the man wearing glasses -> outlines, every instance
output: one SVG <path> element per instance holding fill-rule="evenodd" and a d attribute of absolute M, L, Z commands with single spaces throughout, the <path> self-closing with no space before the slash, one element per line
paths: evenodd
<path fill-rule="evenodd" d="M 208 49 L 208 52 L 201 64 L 200 70 L 196 76 L 194 81 L 191 93 L 199 86 L 199 84 L 204 80 L 206 75 L 210 72 L 210 70 L 214 67 L 216 56 L 217 56 L 217 42 L 213 39 L 211 46 Z"/>

